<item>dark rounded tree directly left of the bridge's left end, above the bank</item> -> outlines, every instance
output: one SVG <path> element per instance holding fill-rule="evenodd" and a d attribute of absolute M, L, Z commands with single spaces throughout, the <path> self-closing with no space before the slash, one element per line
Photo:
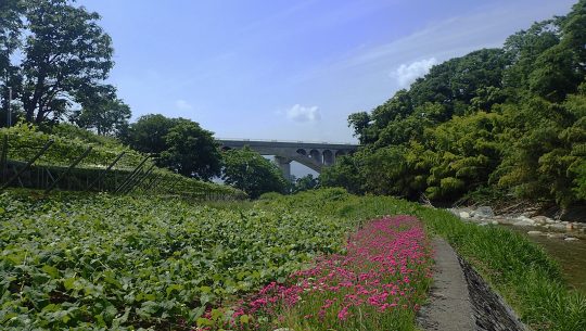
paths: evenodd
<path fill-rule="evenodd" d="M 166 150 L 158 164 L 186 177 L 209 180 L 219 176 L 221 161 L 218 145 L 211 131 L 195 122 L 179 118 L 164 136 Z"/>

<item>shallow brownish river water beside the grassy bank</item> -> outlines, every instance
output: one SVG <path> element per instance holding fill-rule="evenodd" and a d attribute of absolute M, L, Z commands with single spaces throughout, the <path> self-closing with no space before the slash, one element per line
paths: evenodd
<path fill-rule="evenodd" d="M 530 235 L 527 231 L 536 230 L 534 227 L 502 226 L 525 234 L 531 241 L 544 247 L 558 260 L 568 283 L 586 293 L 586 240 L 565 241 L 546 235 Z"/>

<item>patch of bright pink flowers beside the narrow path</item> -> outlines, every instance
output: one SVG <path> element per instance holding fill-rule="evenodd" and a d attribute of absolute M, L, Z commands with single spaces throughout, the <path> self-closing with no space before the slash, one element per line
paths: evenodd
<path fill-rule="evenodd" d="M 348 238 L 346 252 L 321 256 L 311 268 L 291 275 L 285 284 L 272 282 L 239 303 L 232 327 L 244 315 L 257 321 L 265 317 L 271 330 L 292 316 L 330 328 L 391 311 L 412 316 L 419 309 L 432 277 L 432 252 L 417 218 L 372 220 Z M 264 329 L 255 324 L 255 330 Z"/>

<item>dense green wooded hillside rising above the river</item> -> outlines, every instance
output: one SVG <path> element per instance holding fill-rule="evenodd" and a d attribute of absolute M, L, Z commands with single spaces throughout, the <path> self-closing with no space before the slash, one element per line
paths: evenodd
<path fill-rule="evenodd" d="M 454 201 L 480 188 L 584 202 L 586 1 L 431 68 L 348 122 L 364 144 L 321 176 L 353 192 Z"/>

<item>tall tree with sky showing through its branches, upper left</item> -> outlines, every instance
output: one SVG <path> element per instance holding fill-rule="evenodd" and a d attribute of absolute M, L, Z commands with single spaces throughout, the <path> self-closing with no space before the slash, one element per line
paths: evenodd
<path fill-rule="evenodd" d="M 12 1 L 9 1 L 12 2 Z M 4 1 L 2 1 L 4 3 Z M 100 15 L 67 0 L 22 1 L 25 39 L 11 86 L 27 122 L 59 120 L 73 103 L 92 93 L 113 66 L 111 39 L 98 25 Z"/>

